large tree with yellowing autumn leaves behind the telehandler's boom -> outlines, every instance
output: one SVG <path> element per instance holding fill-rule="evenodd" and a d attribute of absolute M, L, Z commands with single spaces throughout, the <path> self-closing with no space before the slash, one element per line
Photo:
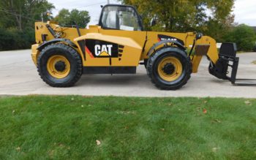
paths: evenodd
<path fill-rule="evenodd" d="M 233 24 L 231 15 L 234 0 L 120 0 L 137 7 L 143 15 L 148 30 L 157 31 L 202 31 L 212 37 L 222 35 Z M 211 12 L 211 15 L 208 15 Z M 151 28 L 151 18 L 157 18 L 157 26 Z M 217 31 L 209 28 L 218 26 Z M 217 37 L 220 39 L 219 37 Z"/>

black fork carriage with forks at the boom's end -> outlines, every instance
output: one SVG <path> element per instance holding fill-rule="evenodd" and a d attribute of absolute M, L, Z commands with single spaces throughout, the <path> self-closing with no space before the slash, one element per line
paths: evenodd
<path fill-rule="evenodd" d="M 236 57 L 237 47 L 235 43 L 222 43 L 219 50 L 219 59 L 216 64 L 211 63 L 209 72 L 222 80 L 229 80 L 233 85 L 256 85 L 253 79 L 237 79 L 239 58 Z M 231 68 L 229 76 L 228 69 Z"/>

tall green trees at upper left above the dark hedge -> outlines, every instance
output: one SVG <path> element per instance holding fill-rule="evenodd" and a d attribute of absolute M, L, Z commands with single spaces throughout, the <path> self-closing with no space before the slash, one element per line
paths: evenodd
<path fill-rule="evenodd" d="M 47 0 L 1 0 L 0 26 L 2 28 L 34 28 L 34 21 L 40 20 L 41 13 L 53 9 Z"/>

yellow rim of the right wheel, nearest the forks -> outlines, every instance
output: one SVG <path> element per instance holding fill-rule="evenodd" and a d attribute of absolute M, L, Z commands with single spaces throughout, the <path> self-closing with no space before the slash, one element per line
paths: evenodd
<path fill-rule="evenodd" d="M 172 82 L 177 80 L 178 77 L 181 77 L 182 70 L 181 61 L 175 57 L 163 58 L 157 67 L 159 77 L 168 82 Z"/>

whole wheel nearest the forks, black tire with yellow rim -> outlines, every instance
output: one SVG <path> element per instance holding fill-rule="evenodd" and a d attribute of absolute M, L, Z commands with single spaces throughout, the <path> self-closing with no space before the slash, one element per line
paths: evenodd
<path fill-rule="evenodd" d="M 189 80 L 192 64 L 183 50 L 165 47 L 148 59 L 147 72 L 157 88 L 176 90 Z"/>

